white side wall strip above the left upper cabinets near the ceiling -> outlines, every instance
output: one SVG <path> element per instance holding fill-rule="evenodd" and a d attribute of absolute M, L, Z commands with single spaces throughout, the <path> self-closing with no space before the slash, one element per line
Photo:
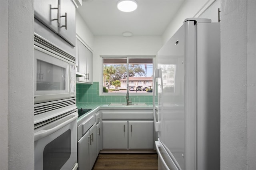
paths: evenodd
<path fill-rule="evenodd" d="M 76 36 L 84 40 L 84 43 L 88 49 L 93 51 L 94 36 L 92 32 L 84 22 L 83 18 L 76 10 Z"/>

